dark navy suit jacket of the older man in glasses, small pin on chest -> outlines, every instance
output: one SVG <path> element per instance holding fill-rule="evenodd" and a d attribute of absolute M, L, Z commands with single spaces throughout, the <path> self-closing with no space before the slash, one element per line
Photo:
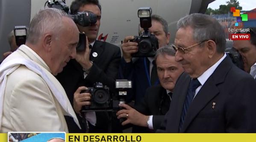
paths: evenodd
<path fill-rule="evenodd" d="M 179 131 L 190 81 L 188 74 L 183 73 L 176 82 L 170 110 L 162 124 L 165 133 L 256 132 L 256 81 L 233 65 L 229 57 L 218 65 L 197 93 Z"/>

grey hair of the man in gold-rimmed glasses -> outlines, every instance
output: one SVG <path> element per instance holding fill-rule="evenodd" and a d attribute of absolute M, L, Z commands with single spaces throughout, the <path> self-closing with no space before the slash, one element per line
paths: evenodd
<path fill-rule="evenodd" d="M 178 29 L 188 26 L 194 30 L 193 38 L 195 41 L 214 40 L 217 52 L 224 52 L 226 47 L 224 29 L 215 18 L 206 14 L 193 13 L 181 18 L 177 23 Z"/>

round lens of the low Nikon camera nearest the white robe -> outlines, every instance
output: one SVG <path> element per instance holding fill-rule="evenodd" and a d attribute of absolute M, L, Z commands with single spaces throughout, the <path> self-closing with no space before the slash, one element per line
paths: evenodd
<path fill-rule="evenodd" d="M 98 104 L 104 104 L 109 100 L 110 95 L 105 90 L 98 89 L 97 91 L 95 91 L 92 97 L 94 99 L 94 102 L 97 102 Z"/>

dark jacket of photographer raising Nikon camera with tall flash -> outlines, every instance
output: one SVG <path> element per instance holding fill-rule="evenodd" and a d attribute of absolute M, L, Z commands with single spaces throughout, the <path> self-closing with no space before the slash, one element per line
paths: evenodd
<path fill-rule="evenodd" d="M 147 60 L 148 73 L 150 73 L 149 64 L 150 63 Z M 127 102 L 135 100 L 135 105 L 141 103 L 144 95 L 146 94 L 147 88 L 150 87 L 147 80 L 147 74 L 145 72 L 144 57 L 135 58 L 135 60 L 129 63 L 125 62 L 124 58 L 122 58 L 119 68 L 119 77 L 121 79 L 132 80 L 132 89 L 127 94 Z M 159 83 L 156 83 L 154 85 L 158 84 Z"/>

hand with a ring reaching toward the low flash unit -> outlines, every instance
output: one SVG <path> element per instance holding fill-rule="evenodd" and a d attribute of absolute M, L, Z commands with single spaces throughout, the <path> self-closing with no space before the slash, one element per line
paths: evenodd
<path fill-rule="evenodd" d="M 122 109 L 116 113 L 118 119 L 127 118 L 124 122 L 122 122 L 122 125 L 127 125 L 130 123 L 133 125 L 147 127 L 147 119 L 149 116 L 141 114 L 127 104 L 120 104 L 119 106 L 125 109 Z"/>

